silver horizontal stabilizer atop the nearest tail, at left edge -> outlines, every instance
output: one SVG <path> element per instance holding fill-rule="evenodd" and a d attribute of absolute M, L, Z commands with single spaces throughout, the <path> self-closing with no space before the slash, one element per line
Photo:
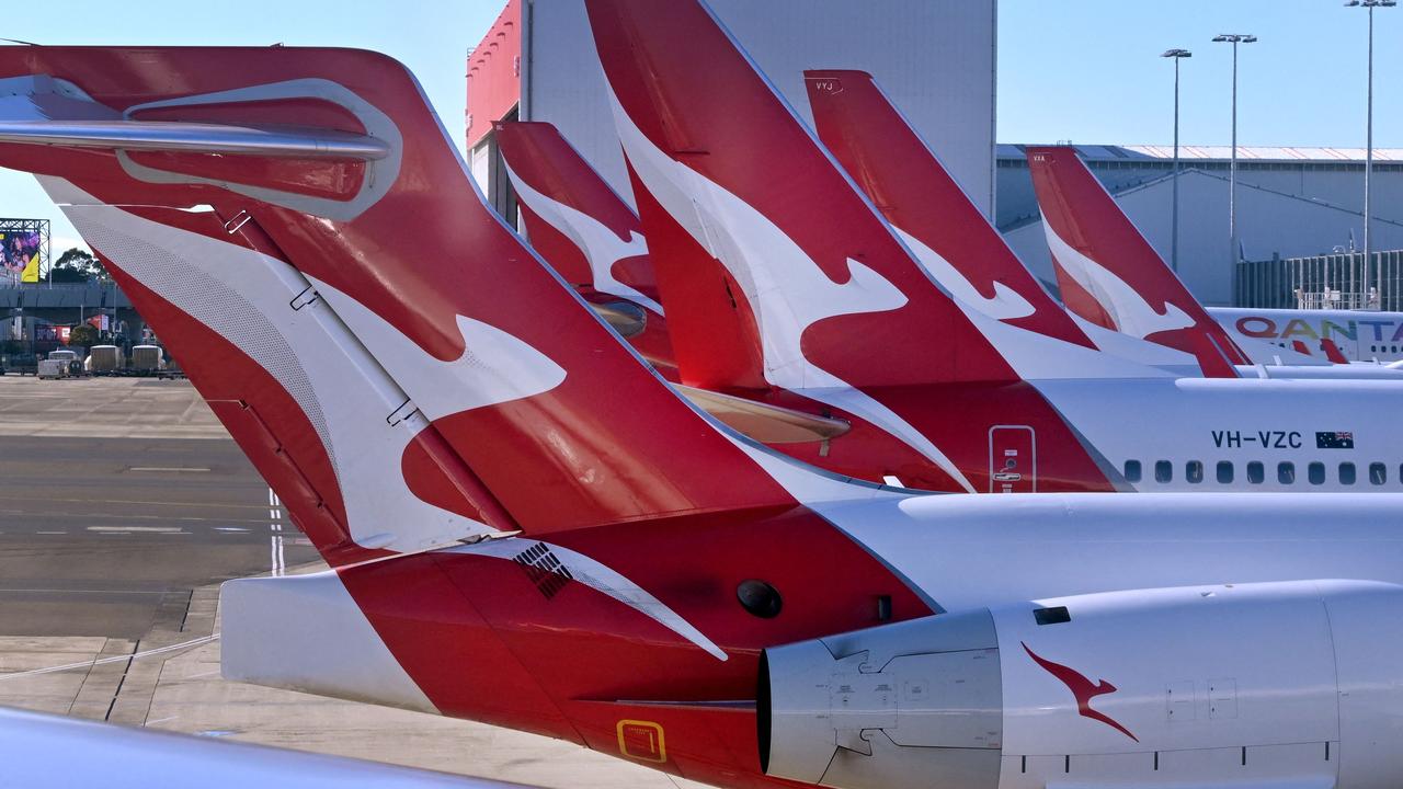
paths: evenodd
<path fill-rule="evenodd" d="M 0 142 L 278 159 L 354 159 L 361 161 L 375 161 L 390 154 L 390 147 L 375 138 L 335 129 L 231 126 L 180 121 L 10 121 L 0 118 Z"/>

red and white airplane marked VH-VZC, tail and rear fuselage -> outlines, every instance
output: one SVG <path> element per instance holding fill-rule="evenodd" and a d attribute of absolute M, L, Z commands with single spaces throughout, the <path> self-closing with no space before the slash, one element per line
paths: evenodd
<path fill-rule="evenodd" d="M 714 364 L 745 361 L 696 385 L 742 396 L 783 390 L 843 409 L 843 418 L 863 418 L 919 449 L 957 483 L 891 473 L 908 487 L 1396 489 L 1403 425 L 1364 416 L 1392 409 L 1396 380 L 1179 376 L 1104 352 L 1085 334 L 1069 341 L 1079 336 L 1066 321 L 1054 337 L 995 317 L 920 265 L 725 31 L 710 24 L 687 32 L 689 24 L 700 22 L 685 11 L 638 25 L 595 24 L 685 382 L 689 348 Z M 895 168 L 875 166 L 864 142 L 871 139 L 843 142 L 875 185 Z M 881 181 L 880 202 L 895 206 L 915 194 L 898 187 Z M 967 202 L 957 190 L 940 197 L 906 222 L 918 227 L 919 211 Z M 920 223 L 926 237 L 916 240 L 962 248 L 936 239 L 939 227 Z M 982 219 L 972 233 L 981 227 L 988 230 Z M 992 232 L 984 237 L 991 256 L 1006 254 Z M 965 253 L 947 260 L 950 281 L 975 265 Z M 1002 270 L 1016 271 L 1012 263 Z M 999 292 L 985 285 L 985 296 Z M 1031 303 L 1035 293 L 1024 289 Z M 1005 295 L 1012 292 L 1009 285 Z M 1194 365 L 1186 352 L 1157 352 Z M 1341 410 L 1344 397 L 1358 410 Z"/>

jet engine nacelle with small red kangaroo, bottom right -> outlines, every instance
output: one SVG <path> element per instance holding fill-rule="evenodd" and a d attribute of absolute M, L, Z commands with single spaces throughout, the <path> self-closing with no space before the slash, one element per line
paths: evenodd
<path fill-rule="evenodd" d="M 1403 785 L 1403 587 L 1087 594 L 765 651 L 766 774 L 840 789 Z"/>

